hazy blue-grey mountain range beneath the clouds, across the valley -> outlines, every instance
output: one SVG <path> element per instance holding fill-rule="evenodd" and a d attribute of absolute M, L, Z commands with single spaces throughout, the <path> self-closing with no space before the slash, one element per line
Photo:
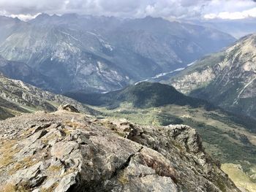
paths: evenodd
<path fill-rule="evenodd" d="M 42 77 L 40 81 L 50 83 L 39 84 L 34 79 L 38 75 L 26 82 L 56 93 L 120 89 L 184 67 L 235 41 L 212 28 L 162 18 L 42 14 L 29 22 L 6 20 L 0 18 L 1 33 L 6 34 L 0 40 L 0 55 L 26 64 Z"/>

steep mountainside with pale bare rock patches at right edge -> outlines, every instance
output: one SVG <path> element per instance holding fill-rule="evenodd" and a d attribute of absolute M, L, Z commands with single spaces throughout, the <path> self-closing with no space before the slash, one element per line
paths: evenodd
<path fill-rule="evenodd" d="M 182 93 L 256 118 L 256 34 L 208 55 L 170 80 Z"/>

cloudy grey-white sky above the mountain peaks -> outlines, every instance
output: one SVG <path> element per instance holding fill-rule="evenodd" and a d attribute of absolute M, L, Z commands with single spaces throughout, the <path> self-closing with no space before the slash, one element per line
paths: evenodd
<path fill-rule="evenodd" d="M 256 18 L 256 0 L 0 0 L 0 15 L 34 18 L 41 12 L 122 18 Z"/>

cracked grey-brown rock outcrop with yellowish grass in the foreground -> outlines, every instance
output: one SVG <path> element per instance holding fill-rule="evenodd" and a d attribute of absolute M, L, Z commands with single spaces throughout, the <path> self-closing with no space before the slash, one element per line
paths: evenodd
<path fill-rule="evenodd" d="M 188 126 L 64 110 L 0 121 L 1 191 L 239 191 Z"/>

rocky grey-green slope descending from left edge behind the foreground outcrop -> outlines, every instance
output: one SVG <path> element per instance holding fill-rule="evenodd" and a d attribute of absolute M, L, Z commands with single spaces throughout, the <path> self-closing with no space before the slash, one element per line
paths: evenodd
<path fill-rule="evenodd" d="M 10 80 L 0 74 L 0 120 L 23 112 L 46 110 L 53 112 L 59 104 L 73 104 L 80 111 L 96 114 L 97 111 L 65 96 L 42 91 L 20 80 Z"/>

